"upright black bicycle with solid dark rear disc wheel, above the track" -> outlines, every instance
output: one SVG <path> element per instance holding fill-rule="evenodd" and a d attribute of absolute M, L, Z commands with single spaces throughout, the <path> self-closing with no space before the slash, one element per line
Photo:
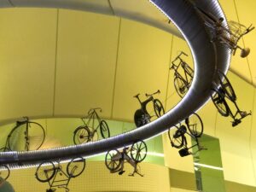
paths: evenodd
<path fill-rule="evenodd" d="M 137 98 L 137 100 L 140 102 L 140 105 L 141 105 L 141 108 L 137 109 L 136 112 L 134 113 L 134 122 L 137 127 L 146 125 L 150 122 L 150 119 L 152 117 L 156 116 L 159 118 L 165 113 L 165 109 L 162 103 L 160 102 L 160 100 L 154 99 L 155 94 L 160 94 L 160 90 L 157 90 L 153 94 L 146 93 L 145 95 L 148 97 L 148 99 L 144 102 L 140 100 L 139 98 L 140 94 L 137 94 L 136 96 L 134 96 L 135 98 Z M 148 102 L 153 102 L 154 116 L 150 116 L 150 114 L 147 111 Z"/>

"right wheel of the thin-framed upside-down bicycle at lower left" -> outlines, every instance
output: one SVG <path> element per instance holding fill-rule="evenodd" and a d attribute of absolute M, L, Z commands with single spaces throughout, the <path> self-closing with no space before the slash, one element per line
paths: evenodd
<path fill-rule="evenodd" d="M 84 172 L 85 160 L 83 157 L 77 157 L 67 164 L 67 175 L 69 177 L 78 177 Z"/>

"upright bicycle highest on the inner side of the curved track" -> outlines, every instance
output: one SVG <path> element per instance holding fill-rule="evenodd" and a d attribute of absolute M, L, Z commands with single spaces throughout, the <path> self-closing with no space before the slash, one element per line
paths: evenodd
<path fill-rule="evenodd" d="M 183 97 L 188 92 L 194 76 L 194 70 L 183 61 L 181 58 L 182 55 L 188 56 L 181 51 L 181 53 L 172 61 L 172 66 L 170 67 L 171 70 L 174 70 L 174 87 L 180 97 Z M 175 64 L 177 61 L 178 63 Z M 179 67 L 183 68 L 184 75 L 178 72 Z"/>

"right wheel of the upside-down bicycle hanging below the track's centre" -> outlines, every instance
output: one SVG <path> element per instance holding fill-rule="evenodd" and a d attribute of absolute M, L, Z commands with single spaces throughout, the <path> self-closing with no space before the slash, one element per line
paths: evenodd
<path fill-rule="evenodd" d="M 137 141 L 131 145 L 131 159 L 142 162 L 147 156 L 148 148 L 143 141 Z"/>

